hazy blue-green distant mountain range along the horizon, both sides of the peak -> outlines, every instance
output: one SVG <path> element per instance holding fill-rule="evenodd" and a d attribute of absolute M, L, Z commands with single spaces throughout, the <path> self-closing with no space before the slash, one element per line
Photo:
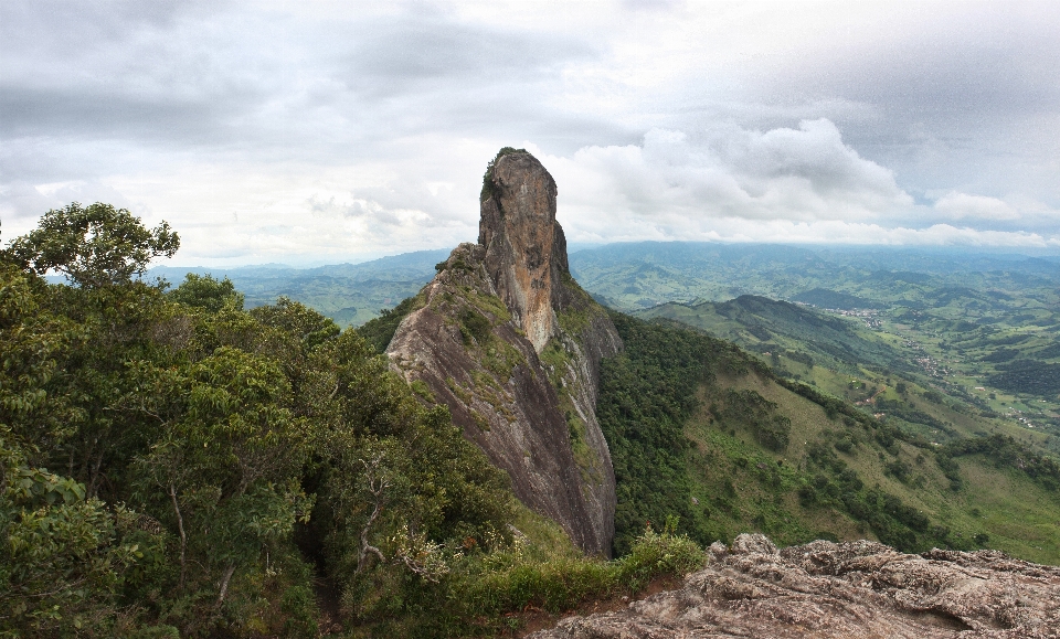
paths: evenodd
<path fill-rule="evenodd" d="M 295 268 L 282 264 L 151 269 L 174 286 L 187 273 L 227 277 L 246 295 L 248 307 L 287 296 L 311 306 L 341 326 L 360 326 L 415 295 L 434 277 L 448 249 L 420 251 L 361 264 Z M 1060 283 L 1060 256 L 963 254 L 945 249 L 881 247 L 796 247 L 770 244 L 637 242 L 610 244 L 570 255 L 571 271 L 600 301 L 621 310 L 666 302 L 725 301 L 741 295 L 803 301 L 823 308 L 876 308 L 905 299 L 911 287 L 983 284 L 983 274 L 1014 285 Z M 974 276 L 971 277 L 969 276 Z M 888 299 L 852 290 L 860 283 Z M 982 288 L 981 286 L 975 286 Z M 925 301 L 924 303 L 933 303 Z"/>

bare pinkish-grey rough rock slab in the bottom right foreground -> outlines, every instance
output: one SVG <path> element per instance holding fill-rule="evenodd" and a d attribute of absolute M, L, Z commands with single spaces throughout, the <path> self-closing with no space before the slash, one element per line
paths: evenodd
<path fill-rule="evenodd" d="M 679 590 L 530 637 L 1060 637 L 1060 567 L 997 551 L 909 555 L 868 541 L 777 551 L 756 534 L 711 552 Z"/>

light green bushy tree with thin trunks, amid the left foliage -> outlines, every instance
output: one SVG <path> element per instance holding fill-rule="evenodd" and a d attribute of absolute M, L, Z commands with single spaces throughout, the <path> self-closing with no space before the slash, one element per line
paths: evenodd
<path fill-rule="evenodd" d="M 308 424 L 287 407 L 289 383 L 268 358 L 223 347 L 187 373 L 170 386 L 178 411 L 137 466 L 162 490 L 155 501 L 171 505 L 178 588 L 218 584 L 220 608 L 236 572 L 255 571 L 311 508 L 299 486 Z"/>

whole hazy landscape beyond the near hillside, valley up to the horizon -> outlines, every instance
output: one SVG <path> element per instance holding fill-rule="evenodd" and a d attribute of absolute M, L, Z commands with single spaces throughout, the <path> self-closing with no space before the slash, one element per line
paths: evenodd
<path fill-rule="evenodd" d="M 413 296 L 445 256 L 213 274 L 230 277 L 248 307 L 287 296 L 359 327 Z M 570 263 L 605 306 L 731 340 L 781 376 L 852 402 L 909 398 L 901 383 L 916 405 L 907 414 L 933 415 L 963 435 L 999 428 L 1060 454 L 1056 256 L 647 242 L 583 249 Z M 937 427 L 924 434 L 950 437 Z"/>

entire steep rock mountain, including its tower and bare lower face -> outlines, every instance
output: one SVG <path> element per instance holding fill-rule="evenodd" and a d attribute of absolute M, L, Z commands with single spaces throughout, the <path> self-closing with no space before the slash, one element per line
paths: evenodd
<path fill-rule="evenodd" d="M 610 555 L 615 477 L 595 404 L 600 361 L 622 340 L 570 275 L 555 195 L 531 155 L 498 156 L 479 244 L 439 265 L 386 354 L 425 401 L 449 407 L 523 503 Z"/>

